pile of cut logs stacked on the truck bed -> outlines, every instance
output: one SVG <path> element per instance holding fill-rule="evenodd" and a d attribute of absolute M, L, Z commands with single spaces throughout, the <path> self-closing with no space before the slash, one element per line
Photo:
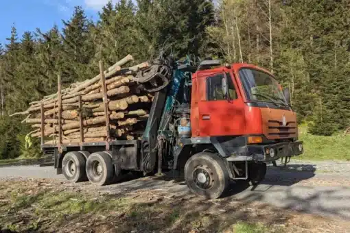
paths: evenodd
<path fill-rule="evenodd" d="M 59 81 L 58 93 L 30 103 L 27 110 L 12 116 L 26 114 L 22 123 L 34 128 L 30 135 L 44 135 L 42 143 L 49 145 L 140 138 L 153 96 L 139 88 L 133 75 L 150 64 L 121 68 L 131 60 L 132 56 L 126 56 L 103 75 L 102 65 L 99 75 L 67 88 L 62 89 Z"/>

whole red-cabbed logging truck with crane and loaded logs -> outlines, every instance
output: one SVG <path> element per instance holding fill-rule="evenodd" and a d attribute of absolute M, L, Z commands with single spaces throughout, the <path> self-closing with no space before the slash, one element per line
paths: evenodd
<path fill-rule="evenodd" d="M 71 182 L 89 180 L 102 186 L 128 172 L 172 170 L 185 177 L 192 192 L 215 199 L 231 180 L 257 185 L 264 180 L 267 163 L 287 163 L 303 153 L 289 90 L 269 71 L 252 64 L 205 60 L 194 66 L 189 59 L 165 58 L 136 68 L 123 73 L 117 69 L 123 84 L 110 86 L 113 75 L 108 73 L 115 67 L 104 71 L 100 64 L 94 82 L 72 86 L 84 86 L 88 95 L 78 88 L 81 95 L 71 92 L 74 101 L 65 101 L 71 99 L 69 91 L 62 91 L 59 82 L 56 101 L 35 103 L 40 121 L 32 123 L 39 127 L 42 149 L 53 156 L 58 174 Z M 114 100 L 113 90 L 119 95 Z M 131 97 L 133 93 L 138 95 Z M 122 107 L 126 103 L 130 108 Z M 48 112 L 45 104 L 54 109 Z M 93 118 L 85 119 L 84 106 L 93 106 Z M 69 111 L 75 111 L 73 116 Z M 50 122 L 56 125 L 47 126 Z M 45 142 L 45 127 L 56 141 Z"/>

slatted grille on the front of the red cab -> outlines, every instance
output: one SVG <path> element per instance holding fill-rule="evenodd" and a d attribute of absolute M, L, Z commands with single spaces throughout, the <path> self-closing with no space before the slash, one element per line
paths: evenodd
<path fill-rule="evenodd" d="M 283 126 L 281 121 L 268 121 L 268 136 L 273 138 L 294 138 L 297 128 L 295 121 L 288 121 Z"/>

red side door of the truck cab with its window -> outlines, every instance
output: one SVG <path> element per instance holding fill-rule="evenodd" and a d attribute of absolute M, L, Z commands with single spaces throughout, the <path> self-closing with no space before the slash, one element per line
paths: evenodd
<path fill-rule="evenodd" d="M 233 136 L 245 128 L 244 103 L 229 71 L 198 77 L 203 89 L 199 108 L 200 136 Z M 204 88 L 205 86 L 205 88 Z"/>

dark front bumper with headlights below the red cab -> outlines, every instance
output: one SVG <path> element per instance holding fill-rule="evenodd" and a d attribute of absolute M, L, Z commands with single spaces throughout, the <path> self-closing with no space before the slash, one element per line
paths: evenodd
<path fill-rule="evenodd" d="M 275 143 L 269 145 L 247 145 L 244 149 L 246 154 L 231 155 L 228 161 L 254 160 L 259 162 L 271 162 L 283 157 L 299 156 L 303 154 L 303 142 Z M 274 153 L 270 153 L 270 151 Z"/>

